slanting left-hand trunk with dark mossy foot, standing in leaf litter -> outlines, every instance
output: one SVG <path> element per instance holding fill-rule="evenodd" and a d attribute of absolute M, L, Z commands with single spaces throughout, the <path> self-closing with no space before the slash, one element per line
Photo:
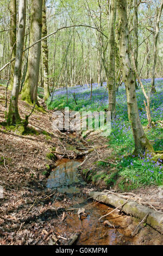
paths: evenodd
<path fill-rule="evenodd" d="M 18 93 L 20 91 L 25 26 L 26 26 L 26 0 L 20 0 L 20 7 L 19 7 L 19 13 L 18 13 L 16 59 L 15 59 L 15 68 L 14 68 L 14 84 L 11 92 L 9 113 L 8 113 L 8 124 L 10 125 L 17 124 L 21 120 L 20 115 L 18 113 L 17 102 L 18 102 Z"/>

